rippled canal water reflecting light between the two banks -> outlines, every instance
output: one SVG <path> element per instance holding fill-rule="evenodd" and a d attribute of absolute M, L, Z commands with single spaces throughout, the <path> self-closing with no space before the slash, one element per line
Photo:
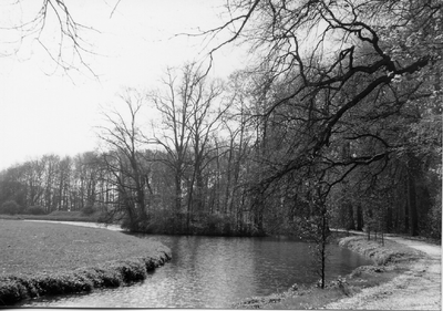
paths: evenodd
<path fill-rule="evenodd" d="M 229 308 L 254 296 L 285 291 L 318 280 L 309 245 L 287 238 L 140 236 L 162 241 L 173 260 L 144 282 L 90 294 L 30 301 L 22 307 Z M 371 262 L 330 246 L 330 279 Z"/>

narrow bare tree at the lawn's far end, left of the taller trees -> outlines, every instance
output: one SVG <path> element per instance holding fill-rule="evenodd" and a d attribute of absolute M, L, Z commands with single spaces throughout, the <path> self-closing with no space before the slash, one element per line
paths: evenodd
<path fill-rule="evenodd" d="M 114 187 L 120 195 L 117 206 L 130 221 L 128 227 L 140 230 L 148 221 L 146 189 L 150 189 L 148 172 L 143 165 L 143 135 L 137 125 L 144 97 L 134 90 L 121 96 L 126 116 L 114 110 L 104 113 L 107 126 L 100 127 L 100 138 L 106 144 L 103 153 L 106 169 L 112 174 Z"/>

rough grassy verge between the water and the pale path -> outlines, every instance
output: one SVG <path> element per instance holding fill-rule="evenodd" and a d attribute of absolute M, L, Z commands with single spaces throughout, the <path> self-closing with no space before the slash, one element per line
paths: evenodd
<path fill-rule="evenodd" d="M 316 286 L 292 286 L 286 292 L 269 297 L 251 298 L 234 308 L 238 309 L 321 309 L 326 304 L 354 296 L 364 288 L 391 281 L 409 270 L 411 262 L 423 257 L 418 250 L 385 240 L 384 246 L 365 237 L 344 237 L 339 245 L 359 252 L 371 260 L 373 266 L 357 268 L 351 274 L 331 281 L 326 289 Z"/>

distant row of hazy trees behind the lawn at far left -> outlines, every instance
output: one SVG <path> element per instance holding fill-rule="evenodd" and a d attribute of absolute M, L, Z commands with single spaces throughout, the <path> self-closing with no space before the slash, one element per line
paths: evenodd
<path fill-rule="evenodd" d="M 0 174 L 0 209 L 4 214 L 50 214 L 54 210 L 83 210 L 101 200 L 99 156 L 44 155 L 18 164 Z M 7 208 L 13 203 L 14 208 Z"/>

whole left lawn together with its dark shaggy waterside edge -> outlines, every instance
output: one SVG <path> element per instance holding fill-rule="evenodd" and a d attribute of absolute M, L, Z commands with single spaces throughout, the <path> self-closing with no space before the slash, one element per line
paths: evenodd
<path fill-rule="evenodd" d="M 0 305 L 119 287 L 171 258 L 156 241 L 69 225 L 0 220 Z"/>

